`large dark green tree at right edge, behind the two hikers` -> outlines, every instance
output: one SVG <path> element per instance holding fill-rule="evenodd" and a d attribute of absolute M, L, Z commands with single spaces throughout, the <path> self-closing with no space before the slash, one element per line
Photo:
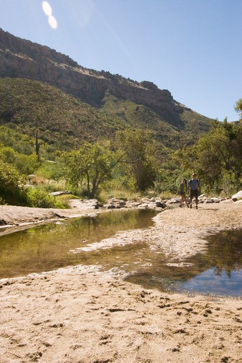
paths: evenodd
<path fill-rule="evenodd" d="M 214 120 L 212 129 L 194 147 L 175 154 L 183 168 L 198 171 L 203 185 L 224 189 L 230 180 L 239 187 L 242 174 L 242 125 L 236 122 Z M 227 187 L 226 187 L 227 189 Z"/>

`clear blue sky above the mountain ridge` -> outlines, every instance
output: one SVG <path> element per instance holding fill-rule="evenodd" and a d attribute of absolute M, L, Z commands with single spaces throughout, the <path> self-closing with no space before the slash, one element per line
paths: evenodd
<path fill-rule="evenodd" d="M 241 19 L 242 0 L 0 0 L 3 30 L 221 121 L 239 119 Z"/>

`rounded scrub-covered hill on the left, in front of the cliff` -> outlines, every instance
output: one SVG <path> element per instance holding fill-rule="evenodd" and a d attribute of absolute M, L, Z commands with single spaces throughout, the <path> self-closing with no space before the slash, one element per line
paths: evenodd
<path fill-rule="evenodd" d="M 118 129 L 127 127 L 53 86 L 20 78 L 0 79 L 0 124 L 30 137 L 39 129 L 42 140 L 59 149 L 114 139 Z"/>

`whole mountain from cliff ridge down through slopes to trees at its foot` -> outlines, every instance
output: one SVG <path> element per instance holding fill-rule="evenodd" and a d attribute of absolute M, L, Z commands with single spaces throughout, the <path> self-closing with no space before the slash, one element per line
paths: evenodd
<path fill-rule="evenodd" d="M 171 196 L 194 170 L 203 192 L 230 195 L 242 186 L 241 132 L 152 82 L 84 68 L 0 29 L 0 203 L 66 206 L 50 196 L 59 189 Z"/>

